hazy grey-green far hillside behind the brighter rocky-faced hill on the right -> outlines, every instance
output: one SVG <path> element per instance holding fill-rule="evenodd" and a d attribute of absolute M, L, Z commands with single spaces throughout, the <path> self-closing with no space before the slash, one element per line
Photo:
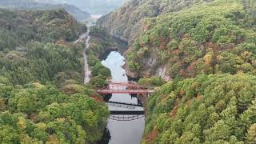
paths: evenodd
<path fill-rule="evenodd" d="M 160 14 L 175 12 L 197 3 L 212 0 L 131 0 L 110 14 L 98 19 L 97 24 L 104 26 L 110 33 L 130 40 L 141 30 L 145 18 L 154 18 Z"/>

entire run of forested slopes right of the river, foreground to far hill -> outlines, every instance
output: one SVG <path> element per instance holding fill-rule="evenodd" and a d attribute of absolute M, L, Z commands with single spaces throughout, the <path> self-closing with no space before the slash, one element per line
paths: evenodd
<path fill-rule="evenodd" d="M 134 0 L 98 20 L 130 42 L 130 76 L 168 81 L 149 98 L 142 143 L 256 142 L 255 8 L 252 0 Z"/>

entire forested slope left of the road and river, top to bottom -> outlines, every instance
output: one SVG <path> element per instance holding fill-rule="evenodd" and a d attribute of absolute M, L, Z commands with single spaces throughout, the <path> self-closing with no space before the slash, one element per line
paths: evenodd
<path fill-rule="evenodd" d="M 1 9 L 0 23 L 0 143 L 100 140 L 109 112 L 72 44 L 86 26 L 65 10 Z"/>

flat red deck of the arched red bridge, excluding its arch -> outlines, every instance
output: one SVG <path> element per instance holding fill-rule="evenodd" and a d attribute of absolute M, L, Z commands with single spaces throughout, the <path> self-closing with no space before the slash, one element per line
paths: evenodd
<path fill-rule="evenodd" d="M 154 90 L 97 90 L 99 94 L 150 94 Z"/>

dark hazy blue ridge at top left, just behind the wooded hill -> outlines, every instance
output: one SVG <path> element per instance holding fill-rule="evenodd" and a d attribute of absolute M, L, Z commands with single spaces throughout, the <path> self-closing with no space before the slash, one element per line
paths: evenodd
<path fill-rule="evenodd" d="M 77 18 L 78 21 L 90 18 L 88 12 L 80 10 L 76 6 L 70 4 L 58 4 L 56 2 L 46 0 L 1 0 L 0 7 L 18 8 L 18 9 L 31 9 L 31 10 L 47 10 L 47 9 L 65 9 L 68 13 Z"/>

